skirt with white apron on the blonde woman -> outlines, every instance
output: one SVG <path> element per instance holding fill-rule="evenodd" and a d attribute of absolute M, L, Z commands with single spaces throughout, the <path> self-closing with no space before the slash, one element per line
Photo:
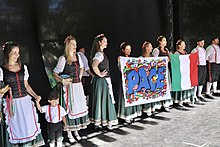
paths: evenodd
<path fill-rule="evenodd" d="M 69 131 L 85 129 L 89 125 L 88 106 L 82 83 L 63 86 L 62 106 L 67 112 L 66 122 Z"/>

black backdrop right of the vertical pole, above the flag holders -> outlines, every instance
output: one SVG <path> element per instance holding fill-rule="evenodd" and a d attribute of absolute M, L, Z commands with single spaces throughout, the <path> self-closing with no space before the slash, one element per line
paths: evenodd
<path fill-rule="evenodd" d="M 213 36 L 220 36 L 220 1 L 173 0 L 174 40 L 184 39 L 188 53 L 196 47 L 197 38 L 205 39 L 205 47 Z"/>

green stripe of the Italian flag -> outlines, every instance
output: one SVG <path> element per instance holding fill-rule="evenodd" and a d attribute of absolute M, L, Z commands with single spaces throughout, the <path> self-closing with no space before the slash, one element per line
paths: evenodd
<path fill-rule="evenodd" d="M 172 70 L 172 91 L 181 91 L 181 73 L 179 54 L 171 54 L 171 70 Z"/>

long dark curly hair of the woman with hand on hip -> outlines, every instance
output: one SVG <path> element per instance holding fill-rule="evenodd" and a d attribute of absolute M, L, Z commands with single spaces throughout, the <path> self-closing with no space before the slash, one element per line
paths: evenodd
<path fill-rule="evenodd" d="M 102 41 L 103 38 L 106 38 L 106 36 L 104 34 L 99 34 L 95 37 L 95 39 L 93 41 L 93 45 L 92 45 L 92 49 L 91 49 L 91 55 L 90 55 L 90 62 L 91 63 L 92 63 L 92 59 L 95 56 L 96 52 L 101 51 L 99 41 Z"/>

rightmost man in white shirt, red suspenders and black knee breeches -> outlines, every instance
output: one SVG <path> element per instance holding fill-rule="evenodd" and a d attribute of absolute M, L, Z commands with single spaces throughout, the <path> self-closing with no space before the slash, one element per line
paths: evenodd
<path fill-rule="evenodd" d="M 206 98 L 213 98 L 213 96 L 220 96 L 217 90 L 217 81 L 220 74 L 220 48 L 218 46 L 218 37 L 212 38 L 212 44 L 206 48 L 206 60 L 208 61 L 208 82 L 206 85 Z M 213 94 L 210 89 L 213 86 Z"/>

